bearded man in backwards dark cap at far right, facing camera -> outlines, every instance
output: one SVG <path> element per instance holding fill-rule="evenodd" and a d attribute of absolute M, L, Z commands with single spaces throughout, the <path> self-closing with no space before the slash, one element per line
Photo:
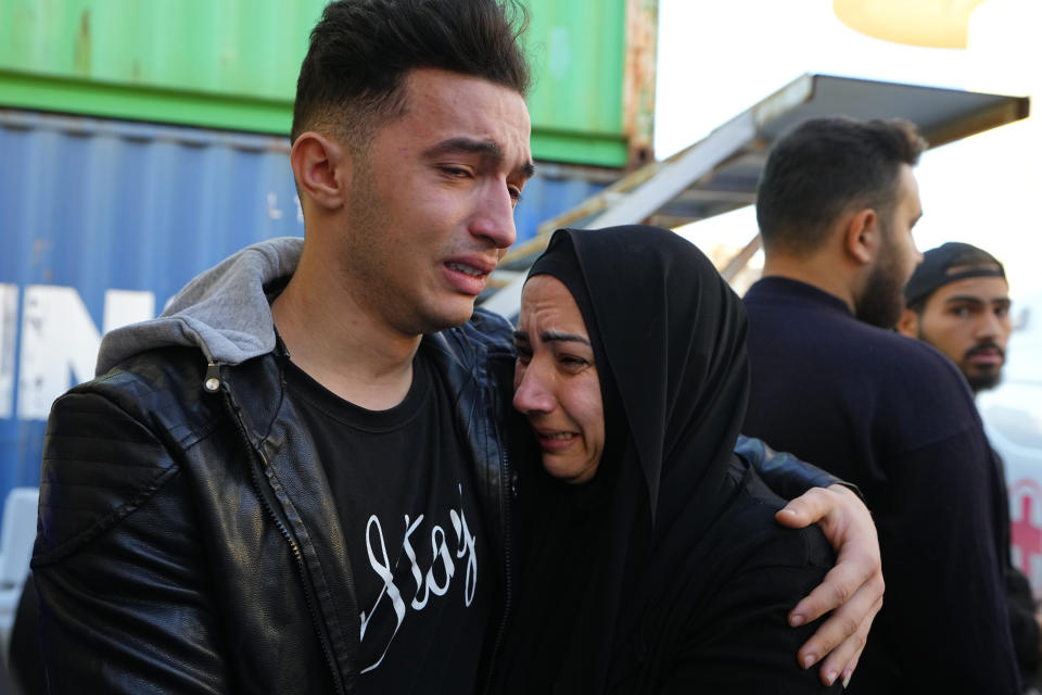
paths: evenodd
<path fill-rule="evenodd" d="M 1009 283 L 997 258 L 983 249 L 957 241 L 930 249 L 904 287 L 904 301 L 898 332 L 941 351 L 966 377 L 974 395 L 999 386 L 1013 323 Z M 1002 458 L 994 450 L 992 454 L 999 479 L 1004 481 Z M 1004 493 L 996 523 L 1003 535 L 1000 557 L 1006 580 L 1009 628 L 1020 680 L 1025 687 L 1038 687 L 1040 617 L 1035 614 L 1031 584 L 1009 555 L 1008 507 L 1008 495 Z"/>

